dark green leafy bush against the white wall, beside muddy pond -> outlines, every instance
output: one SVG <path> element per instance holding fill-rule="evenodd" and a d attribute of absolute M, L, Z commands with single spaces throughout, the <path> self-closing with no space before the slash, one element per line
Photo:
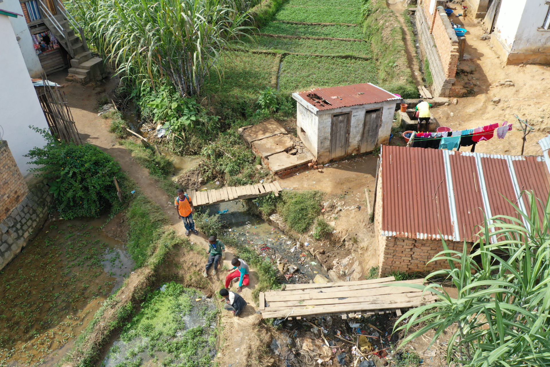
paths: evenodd
<path fill-rule="evenodd" d="M 124 182 L 118 162 L 91 144 L 74 145 L 56 140 L 47 129 L 33 127 L 42 134 L 47 144 L 34 147 L 25 157 L 37 165 L 30 171 L 42 172 L 37 177 L 50 179 L 54 193 L 51 210 L 58 210 L 66 219 L 100 216 L 105 210 L 122 207 L 113 177 Z"/>

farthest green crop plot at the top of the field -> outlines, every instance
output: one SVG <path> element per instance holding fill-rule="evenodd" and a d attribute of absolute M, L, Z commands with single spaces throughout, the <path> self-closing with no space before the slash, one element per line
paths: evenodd
<path fill-rule="evenodd" d="M 360 9 L 335 9 L 333 7 L 284 6 L 275 15 L 276 20 L 306 21 L 309 23 L 351 23 L 361 21 Z"/>

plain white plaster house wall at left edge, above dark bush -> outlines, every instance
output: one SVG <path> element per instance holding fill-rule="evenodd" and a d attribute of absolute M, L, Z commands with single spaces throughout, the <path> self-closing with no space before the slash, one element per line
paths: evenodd
<path fill-rule="evenodd" d="M 28 169 L 36 166 L 27 165 L 30 159 L 24 155 L 33 147 L 46 144 L 29 125 L 47 129 L 48 124 L 8 18 L 0 15 L 0 125 L 4 130 L 2 139 L 8 141 L 19 170 L 26 177 L 31 174 Z"/>

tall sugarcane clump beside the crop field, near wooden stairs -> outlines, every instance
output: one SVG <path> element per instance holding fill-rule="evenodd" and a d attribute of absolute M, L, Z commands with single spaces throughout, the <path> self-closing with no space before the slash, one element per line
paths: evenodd
<path fill-rule="evenodd" d="M 253 28 L 245 0 L 85 0 L 73 3 L 97 50 L 134 85 L 171 81 L 182 97 L 199 96 L 218 60 Z"/>

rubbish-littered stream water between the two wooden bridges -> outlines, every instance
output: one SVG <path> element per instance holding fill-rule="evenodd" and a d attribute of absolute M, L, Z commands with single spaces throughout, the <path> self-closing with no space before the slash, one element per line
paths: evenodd
<path fill-rule="evenodd" d="M 251 215 L 246 211 L 244 203 L 240 200 L 226 201 L 218 205 L 202 206 L 200 211 L 210 214 L 226 211 L 221 217 L 227 223 L 228 230 L 224 235 L 237 239 L 241 244 L 246 244 L 258 250 L 262 256 L 268 256 L 272 260 L 281 256 L 289 265 L 299 268 L 289 283 L 298 283 L 315 278 L 317 274 L 327 276 L 321 264 L 311 256 L 307 247 L 301 243 L 300 248 L 294 248 L 296 241 L 288 238 L 277 228 L 273 228 L 260 217 Z M 294 248 L 294 250 L 293 250 Z M 328 277 L 328 276 L 327 276 Z"/>

